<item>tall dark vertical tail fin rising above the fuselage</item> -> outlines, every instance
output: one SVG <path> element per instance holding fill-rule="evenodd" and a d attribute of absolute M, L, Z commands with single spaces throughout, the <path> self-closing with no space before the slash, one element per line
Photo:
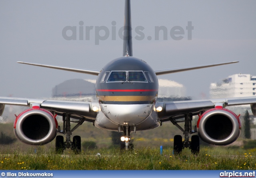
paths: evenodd
<path fill-rule="evenodd" d="M 130 0 L 125 0 L 125 7 L 124 7 L 123 56 L 132 56 L 132 18 L 131 18 Z"/>

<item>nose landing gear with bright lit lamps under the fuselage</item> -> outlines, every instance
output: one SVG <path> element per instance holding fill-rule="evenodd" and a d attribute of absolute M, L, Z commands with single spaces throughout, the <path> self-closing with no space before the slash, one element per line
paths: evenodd
<path fill-rule="evenodd" d="M 128 124 L 124 126 L 118 125 L 118 132 L 120 133 L 120 130 L 124 132 L 124 135 L 121 137 L 121 144 L 120 144 L 120 150 L 133 150 L 133 144 L 130 143 L 131 137 L 130 137 L 130 126 Z M 134 126 L 134 133 L 136 132 L 136 126 Z"/>

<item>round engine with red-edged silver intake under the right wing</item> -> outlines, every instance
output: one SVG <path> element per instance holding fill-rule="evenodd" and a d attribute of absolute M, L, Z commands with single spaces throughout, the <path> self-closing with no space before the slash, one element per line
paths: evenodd
<path fill-rule="evenodd" d="M 227 109 L 211 109 L 198 119 L 197 131 L 202 141 L 212 145 L 229 145 L 241 132 L 239 116 Z"/>

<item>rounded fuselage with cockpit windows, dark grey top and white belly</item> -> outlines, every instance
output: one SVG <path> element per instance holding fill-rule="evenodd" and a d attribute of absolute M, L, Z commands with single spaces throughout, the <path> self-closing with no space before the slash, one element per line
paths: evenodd
<path fill-rule="evenodd" d="M 104 117 L 112 123 L 110 125 L 115 130 L 117 125 L 140 126 L 152 112 L 155 115 L 153 109 L 158 94 L 158 79 L 145 61 L 135 57 L 120 57 L 110 61 L 100 71 L 96 94 L 100 110 L 104 114 L 100 113 L 96 118 L 96 126 L 100 127 Z M 158 127 L 158 119 L 153 117 L 148 121 L 155 128 Z M 104 123 L 104 127 L 106 125 Z M 138 127 L 140 128 L 142 129 Z"/>

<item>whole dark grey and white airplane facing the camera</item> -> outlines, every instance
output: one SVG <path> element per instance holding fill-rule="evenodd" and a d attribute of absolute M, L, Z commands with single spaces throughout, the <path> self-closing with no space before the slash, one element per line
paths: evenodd
<path fill-rule="evenodd" d="M 134 145 L 131 143 L 131 133 L 154 129 L 163 122 L 170 121 L 184 135 L 184 141 L 181 135 L 174 136 L 174 153 L 179 154 L 184 148 L 189 148 L 192 154 L 197 154 L 200 151 L 200 139 L 212 145 L 229 145 L 239 137 L 240 115 L 226 109 L 226 106 L 250 104 L 252 113 L 256 116 L 256 97 L 156 102 L 158 75 L 227 65 L 238 61 L 153 70 L 142 59 L 133 57 L 130 0 L 125 0 L 123 36 L 122 57 L 110 61 L 101 70 L 18 62 L 98 77 L 97 102 L 0 97 L 0 115 L 5 105 L 30 107 L 16 115 L 14 133 L 17 139 L 28 145 L 44 145 L 55 139 L 56 153 L 63 153 L 66 148 L 71 148 L 74 153 L 80 153 L 81 137 L 76 135 L 71 139 L 71 135 L 84 121 L 88 121 L 100 129 L 123 133 L 120 138 L 121 149 L 132 150 Z M 62 116 L 62 130 L 56 120 L 57 115 Z M 194 115 L 198 115 L 199 118 L 193 127 Z M 72 129 L 71 122 L 76 123 Z M 184 127 L 178 124 L 182 122 Z M 66 135 L 66 141 L 57 133 Z"/>

